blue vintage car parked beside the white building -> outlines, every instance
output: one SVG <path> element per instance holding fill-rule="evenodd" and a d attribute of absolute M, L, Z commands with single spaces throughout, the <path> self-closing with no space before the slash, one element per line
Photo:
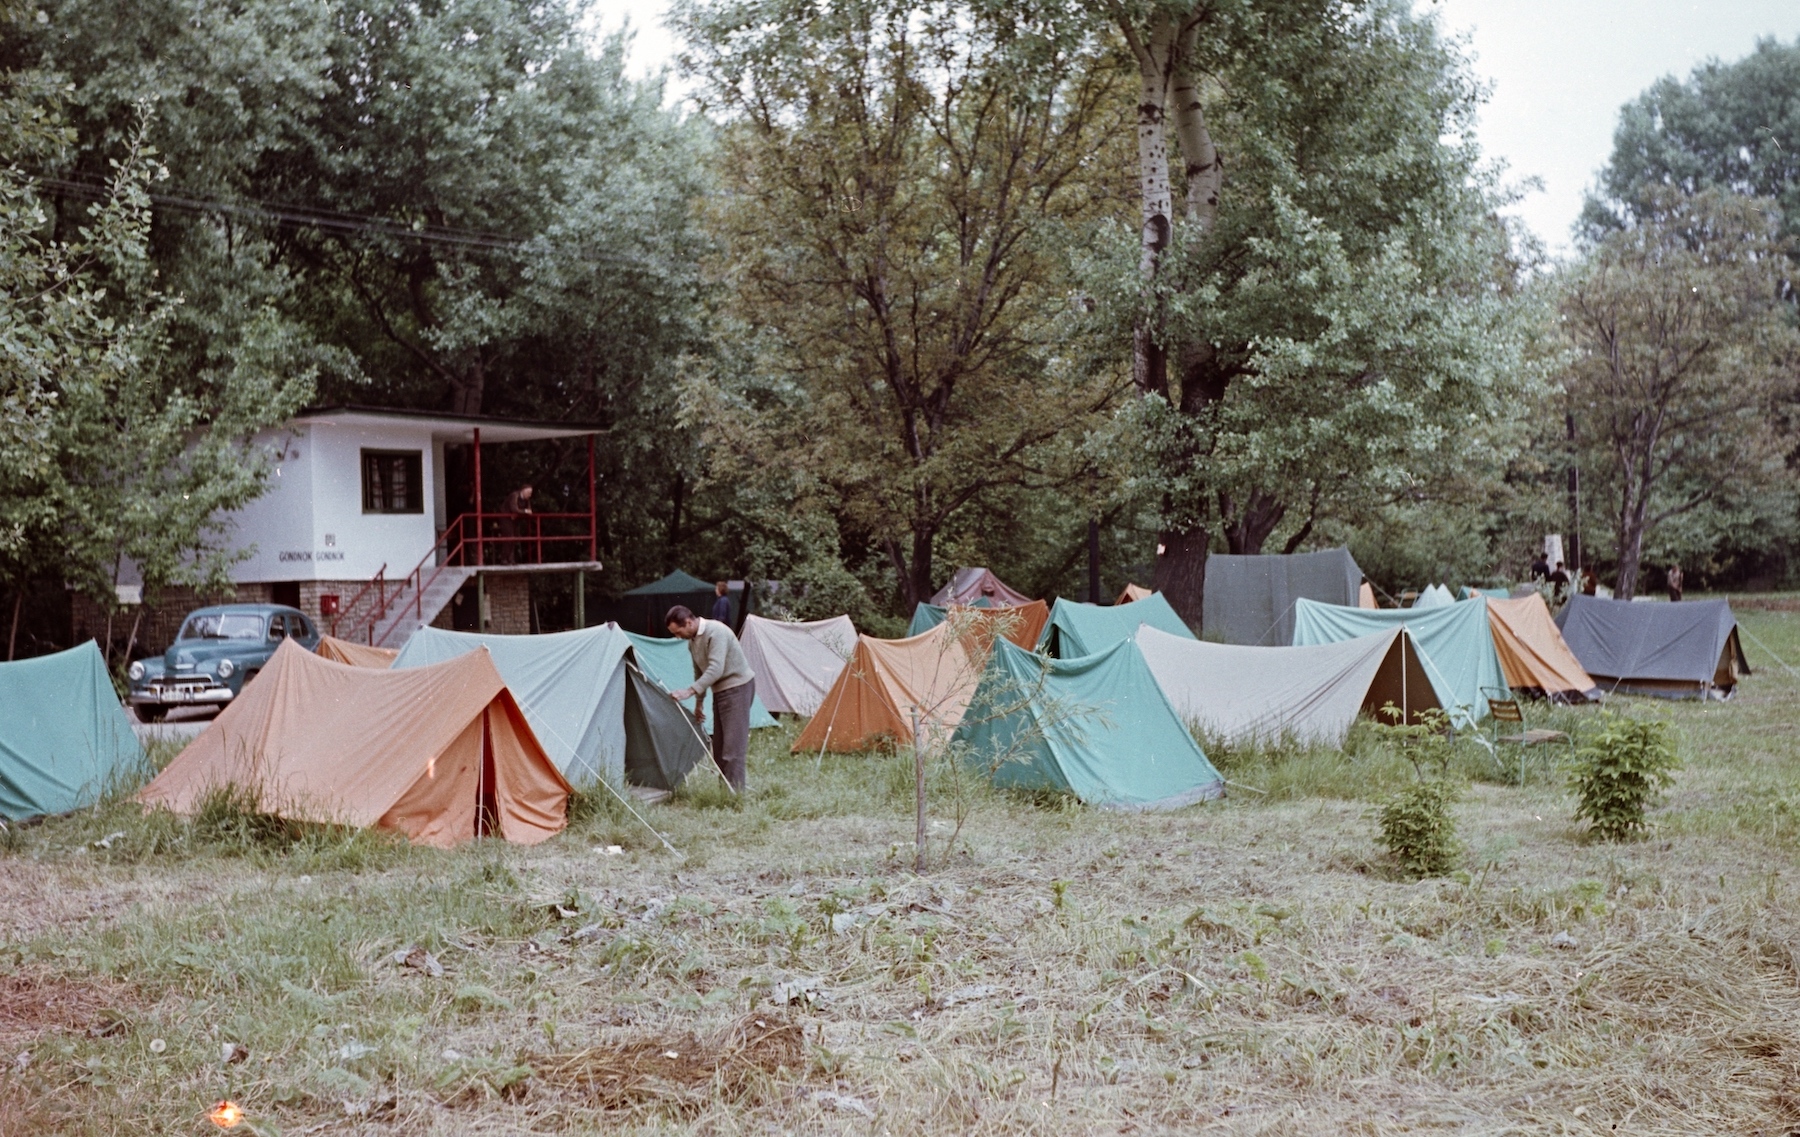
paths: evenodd
<path fill-rule="evenodd" d="M 194 608 L 160 658 L 140 658 L 126 671 L 131 682 L 126 702 L 151 723 L 175 707 L 223 707 L 284 639 L 313 649 L 319 628 L 304 612 L 283 604 Z"/>

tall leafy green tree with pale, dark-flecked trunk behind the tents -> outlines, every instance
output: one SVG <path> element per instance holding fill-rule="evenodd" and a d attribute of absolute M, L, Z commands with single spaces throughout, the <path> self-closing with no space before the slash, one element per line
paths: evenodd
<path fill-rule="evenodd" d="M 1478 90 L 1406 5 L 1107 11 L 1139 74 L 1139 480 L 1156 585 L 1199 622 L 1215 540 L 1298 549 L 1413 491 L 1492 416 L 1525 374 L 1516 264 L 1471 140 Z"/>

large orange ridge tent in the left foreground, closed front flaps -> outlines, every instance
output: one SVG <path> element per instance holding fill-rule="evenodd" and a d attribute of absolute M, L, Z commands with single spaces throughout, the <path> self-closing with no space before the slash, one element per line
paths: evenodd
<path fill-rule="evenodd" d="M 439 847 L 477 835 L 536 844 L 563 828 L 569 802 L 486 648 L 371 671 L 281 644 L 137 799 L 193 813 L 225 786 L 279 817 L 382 826 Z"/>

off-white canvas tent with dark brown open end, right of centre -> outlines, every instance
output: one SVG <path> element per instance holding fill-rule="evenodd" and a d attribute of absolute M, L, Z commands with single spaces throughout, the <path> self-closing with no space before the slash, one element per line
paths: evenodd
<path fill-rule="evenodd" d="M 1150 675 L 1183 721 L 1229 745 L 1341 747 L 1363 711 L 1438 705 L 1406 628 L 1307 648 L 1246 648 L 1138 630 Z M 1386 720 L 1382 720 L 1386 721 Z"/>

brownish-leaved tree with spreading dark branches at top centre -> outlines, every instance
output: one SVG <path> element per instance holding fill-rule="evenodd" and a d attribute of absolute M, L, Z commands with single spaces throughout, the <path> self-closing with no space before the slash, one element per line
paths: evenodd
<path fill-rule="evenodd" d="M 697 392 L 724 477 L 799 479 L 907 610 L 952 518 L 1055 486 L 1121 387 L 1080 353 L 1069 250 L 1112 207 L 1127 76 L 1062 4 L 722 0 L 679 23 L 724 117 L 729 335 Z"/>

